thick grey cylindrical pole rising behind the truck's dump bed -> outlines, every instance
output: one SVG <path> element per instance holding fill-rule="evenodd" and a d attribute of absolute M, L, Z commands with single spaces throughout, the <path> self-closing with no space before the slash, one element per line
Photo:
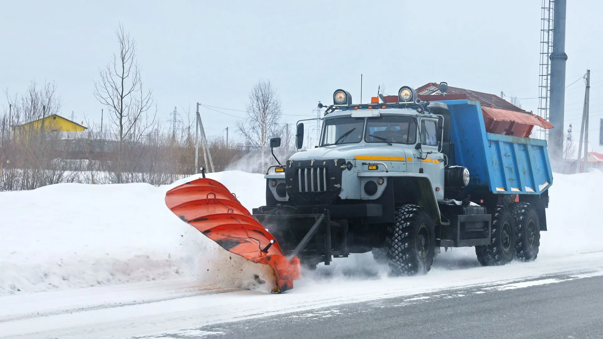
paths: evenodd
<path fill-rule="evenodd" d="M 551 106 L 549 121 L 554 128 L 549 132 L 549 150 L 554 169 L 563 164 L 563 125 L 565 105 L 566 60 L 566 0 L 555 0 L 553 13 L 553 52 L 551 53 Z"/>

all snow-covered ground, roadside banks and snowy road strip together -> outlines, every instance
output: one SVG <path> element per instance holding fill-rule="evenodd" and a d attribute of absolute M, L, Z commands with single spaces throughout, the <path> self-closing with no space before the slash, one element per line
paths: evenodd
<path fill-rule="evenodd" d="M 248 209 L 264 204 L 260 174 L 209 177 Z M 513 285 L 558 272 L 603 272 L 599 171 L 555 174 L 549 230 L 541 233 L 535 262 L 479 267 L 473 248 L 453 249 L 438 255 L 425 276 L 388 277 L 387 265 L 365 253 L 306 272 L 278 296 L 252 278 L 269 276 L 266 266 L 226 252 L 166 208 L 165 192 L 185 181 L 0 192 L 0 338 L 157 335 L 446 288 Z"/>

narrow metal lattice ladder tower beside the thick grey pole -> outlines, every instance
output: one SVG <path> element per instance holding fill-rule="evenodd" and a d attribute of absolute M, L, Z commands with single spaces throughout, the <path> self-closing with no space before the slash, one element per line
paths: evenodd
<path fill-rule="evenodd" d="M 540 82 L 538 84 L 538 115 L 549 120 L 549 99 L 551 93 L 551 59 L 553 51 L 553 12 L 555 0 L 542 0 L 540 22 Z M 537 127 L 536 138 L 548 139 L 549 130 Z"/>

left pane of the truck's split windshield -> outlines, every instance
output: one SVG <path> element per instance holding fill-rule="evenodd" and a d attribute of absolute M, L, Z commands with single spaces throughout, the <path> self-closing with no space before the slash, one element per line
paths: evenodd
<path fill-rule="evenodd" d="M 362 140 L 364 118 L 333 118 L 324 121 L 321 146 L 354 144 Z"/>

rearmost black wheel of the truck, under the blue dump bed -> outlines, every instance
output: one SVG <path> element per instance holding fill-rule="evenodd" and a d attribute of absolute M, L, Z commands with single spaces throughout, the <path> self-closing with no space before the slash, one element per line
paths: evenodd
<path fill-rule="evenodd" d="M 538 256 L 540 247 L 540 221 L 534 206 L 528 203 L 514 203 L 511 214 L 516 225 L 515 257 L 522 261 L 532 261 Z"/>

